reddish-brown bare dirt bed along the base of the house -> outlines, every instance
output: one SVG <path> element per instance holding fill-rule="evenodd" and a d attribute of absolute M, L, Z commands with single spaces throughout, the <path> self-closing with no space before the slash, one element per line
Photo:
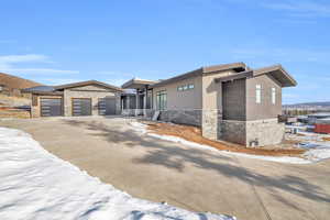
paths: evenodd
<path fill-rule="evenodd" d="M 145 121 L 143 123 L 148 125 L 147 129 L 151 133 L 178 136 L 187 141 L 209 145 L 215 148 L 223 150 L 223 151 L 246 153 L 253 155 L 266 155 L 266 156 L 297 156 L 305 152 L 305 150 L 295 148 L 293 147 L 293 145 L 287 148 L 278 147 L 278 146 L 251 148 L 239 144 L 218 142 L 218 141 L 206 139 L 201 135 L 200 129 L 196 127 L 178 125 L 172 123 L 155 123 L 155 122 L 145 122 Z"/>

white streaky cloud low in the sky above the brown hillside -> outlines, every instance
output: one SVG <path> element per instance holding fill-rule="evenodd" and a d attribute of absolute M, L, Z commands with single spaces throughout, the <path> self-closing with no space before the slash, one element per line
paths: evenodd
<path fill-rule="evenodd" d="M 54 68 L 22 68 L 16 67 L 18 64 L 52 64 L 48 56 L 41 54 L 25 54 L 25 55 L 7 55 L 0 56 L 0 70 L 13 74 L 78 74 L 78 70 L 64 70 Z"/>

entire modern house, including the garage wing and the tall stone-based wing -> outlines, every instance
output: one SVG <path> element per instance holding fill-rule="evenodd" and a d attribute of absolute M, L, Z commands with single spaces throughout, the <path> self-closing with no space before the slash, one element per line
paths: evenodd
<path fill-rule="evenodd" d="M 233 63 L 165 80 L 134 78 L 122 88 L 89 80 L 23 92 L 32 94 L 32 117 L 143 116 L 199 127 L 211 140 L 263 146 L 282 142 L 282 88 L 296 85 L 280 65 L 251 69 Z"/>

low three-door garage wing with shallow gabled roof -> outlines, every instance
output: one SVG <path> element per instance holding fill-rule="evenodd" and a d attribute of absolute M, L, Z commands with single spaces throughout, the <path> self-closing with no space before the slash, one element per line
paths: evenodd
<path fill-rule="evenodd" d="M 23 89 L 32 94 L 31 116 L 108 116 L 120 113 L 122 89 L 96 80 Z"/>

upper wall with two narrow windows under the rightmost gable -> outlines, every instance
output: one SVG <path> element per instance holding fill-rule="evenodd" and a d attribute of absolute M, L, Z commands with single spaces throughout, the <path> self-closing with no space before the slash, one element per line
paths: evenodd
<path fill-rule="evenodd" d="M 262 86 L 261 103 L 255 101 L 255 86 Z M 272 88 L 276 90 L 276 102 L 272 103 Z M 282 114 L 282 87 L 275 79 L 262 75 L 246 79 L 246 120 L 277 118 Z"/>

